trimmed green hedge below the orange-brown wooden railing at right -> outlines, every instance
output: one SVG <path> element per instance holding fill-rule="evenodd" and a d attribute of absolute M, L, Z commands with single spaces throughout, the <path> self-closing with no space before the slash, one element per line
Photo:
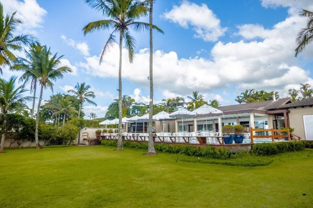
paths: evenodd
<path fill-rule="evenodd" d="M 283 141 L 283 142 L 263 142 L 252 146 L 254 155 L 275 155 L 290 151 L 304 150 L 305 144 L 302 141 Z"/>

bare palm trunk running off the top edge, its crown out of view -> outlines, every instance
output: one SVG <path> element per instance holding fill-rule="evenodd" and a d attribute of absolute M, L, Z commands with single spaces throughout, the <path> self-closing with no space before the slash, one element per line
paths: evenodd
<path fill-rule="evenodd" d="M 149 74 L 150 74 L 150 103 L 149 103 L 149 139 L 148 139 L 148 155 L 155 154 L 156 150 L 154 149 L 153 137 L 152 137 L 152 116 L 153 116 L 153 44 L 152 44 L 152 8 L 153 8 L 153 0 L 150 0 L 150 61 L 149 61 Z"/>

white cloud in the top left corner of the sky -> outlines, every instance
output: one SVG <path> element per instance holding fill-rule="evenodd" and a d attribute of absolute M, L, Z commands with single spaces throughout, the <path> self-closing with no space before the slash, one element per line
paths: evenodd
<path fill-rule="evenodd" d="M 1 2 L 5 13 L 17 11 L 18 17 L 23 21 L 23 29 L 42 27 L 47 11 L 40 7 L 36 0 L 2 0 Z"/>

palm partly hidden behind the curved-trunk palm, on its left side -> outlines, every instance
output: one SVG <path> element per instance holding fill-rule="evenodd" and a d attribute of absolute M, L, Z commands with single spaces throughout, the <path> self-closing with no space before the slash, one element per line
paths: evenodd
<path fill-rule="evenodd" d="M 33 91 L 33 105 L 31 110 L 31 115 L 34 115 L 35 108 L 35 99 L 36 99 L 36 88 L 37 88 L 37 77 L 32 70 L 35 70 L 35 65 L 33 62 L 33 57 L 38 56 L 42 50 L 42 46 L 38 43 L 32 43 L 30 50 L 24 50 L 26 58 L 18 58 L 18 61 L 11 67 L 11 70 L 17 70 L 24 72 L 23 75 L 19 78 L 19 82 L 24 81 L 23 86 L 30 83 L 30 92 Z"/>

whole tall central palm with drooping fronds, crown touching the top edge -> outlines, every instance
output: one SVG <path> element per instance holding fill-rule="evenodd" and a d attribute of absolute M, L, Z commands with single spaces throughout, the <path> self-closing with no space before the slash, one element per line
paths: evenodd
<path fill-rule="evenodd" d="M 104 16 L 109 17 L 107 20 L 99 20 L 88 23 L 84 28 L 84 35 L 94 32 L 95 30 L 110 30 L 109 39 L 105 43 L 100 56 L 100 63 L 105 53 L 109 52 L 110 48 L 115 45 L 115 32 L 119 32 L 119 47 L 120 47 L 120 60 L 119 60 L 119 136 L 117 150 L 123 150 L 122 143 L 122 44 L 125 40 L 125 47 L 128 50 L 129 62 L 133 62 L 135 53 L 135 38 L 131 36 L 129 30 L 139 32 L 149 29 L 149 23 L 136 22 L 141 17 L 145 17 L 149 10 L 149 0 L 85 0 L 92 8 L 101 12 Z M 161 29 L 152 26 L 159 32 L 163 32 Z"/>

